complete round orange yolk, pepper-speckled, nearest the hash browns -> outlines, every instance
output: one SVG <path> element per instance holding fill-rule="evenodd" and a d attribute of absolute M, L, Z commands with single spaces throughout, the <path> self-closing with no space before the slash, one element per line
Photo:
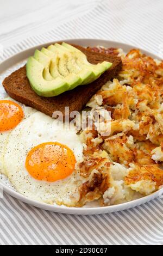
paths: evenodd
<path fill-rule="evenodd" d="M 29 151 L 26 169 L 36 180 L 54 182 L 71 175 L 76 164 L 73 151 L 58 142 L 37 145 Z"/>

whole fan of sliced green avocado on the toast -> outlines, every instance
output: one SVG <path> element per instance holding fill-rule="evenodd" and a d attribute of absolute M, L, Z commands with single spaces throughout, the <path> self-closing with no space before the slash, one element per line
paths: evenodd
<path fill-rule="evenodd" d="M 35 93 L 53 97 L 95 81 L 111 65 L 109 62 L 93 65 L 77 48 L 62 43 L 36 50 L 28 58 L 26 70 Z"/>

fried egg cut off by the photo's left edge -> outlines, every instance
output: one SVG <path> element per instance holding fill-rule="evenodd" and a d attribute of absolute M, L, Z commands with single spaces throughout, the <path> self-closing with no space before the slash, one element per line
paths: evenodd
<path fill-rule="evenodd" d="M 3 154 L 5 145 L 7 144 L 9 133 L 15 129 L 17 125 L 22 123 L 35 109 L 26 107 L 10 97 L 0 100 L 0 173 L 6 174 L 3 168 Z"/>

